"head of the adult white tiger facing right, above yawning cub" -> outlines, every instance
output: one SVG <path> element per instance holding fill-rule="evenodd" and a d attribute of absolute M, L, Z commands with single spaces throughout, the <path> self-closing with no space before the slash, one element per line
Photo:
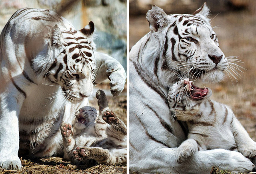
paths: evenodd
<path fill-rule="evenodd" d="M 207 82 L 223 79 L 228 61 L 219 48 L 208 15 L 206 3 L 193 14 L 166 15 L 157 6 L 148 11 L 147 20 L 155 39 L 151 53 L 158 55 L 158 62 L 149 63 L 155 65 L 158 76 L 166 79 L 176 73 Z"/>

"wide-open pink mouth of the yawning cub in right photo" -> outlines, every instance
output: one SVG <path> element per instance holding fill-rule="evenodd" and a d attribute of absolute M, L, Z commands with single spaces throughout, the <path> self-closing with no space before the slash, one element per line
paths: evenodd
<path fill-rule="evenodd" d="M 193 99 L 202 99 L 208 94 L 208 88 L 199 88 L 197 86 L 194 86 L 192 83 L 192 81 L 188 82 L 187 80 L 184 80 L 184 84 L 189 85 L 190 96 Z"/>

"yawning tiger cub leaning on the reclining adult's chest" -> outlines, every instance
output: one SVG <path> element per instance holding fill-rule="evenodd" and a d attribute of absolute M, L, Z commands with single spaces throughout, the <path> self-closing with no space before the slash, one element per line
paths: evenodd
<path fill-rule="evenodd" d="M 183 79 L 169 88 L 168 103 L 171 117 L 186 121 L 188 139 L 176 151 L 176 162 L 184 162 L 197 151 L 228 149 L 245 157 L 256 156 L 256 143 L 224 104 L 210 100 L 209 88 L 198 88 Z"/>

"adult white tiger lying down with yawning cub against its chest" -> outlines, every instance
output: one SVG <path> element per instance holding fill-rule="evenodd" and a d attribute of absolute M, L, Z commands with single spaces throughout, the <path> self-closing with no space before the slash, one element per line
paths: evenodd
<path fill-rule="evenodd" d="M 150 33 L 129 53 L 129 170 L 142 173 L 209 173 L 212 166 L 234 172 L 252 170 L 242 154 L 224 149 L 199 151 L 182 165 L 176 147 L 186 126 L 169 115 L 168 87 L 182 74 L 220 81 L 227 59 L 218 47 L 204 4 L 190 14 L 167 16 L 153 6 L 147 13 Z"/>

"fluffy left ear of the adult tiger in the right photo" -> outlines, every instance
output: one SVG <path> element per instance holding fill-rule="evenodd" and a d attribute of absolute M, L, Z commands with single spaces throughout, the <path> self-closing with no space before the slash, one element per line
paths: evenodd
<path fill-rule="evenodd" d="M 152 6 L 151 10 L 148 10 L 147 20 L 149 27 L 152 31 L 156 32 L 158 29 L 165 27 L 168 24 L 168 16 L 162 8 L 158 6 Z"/>

